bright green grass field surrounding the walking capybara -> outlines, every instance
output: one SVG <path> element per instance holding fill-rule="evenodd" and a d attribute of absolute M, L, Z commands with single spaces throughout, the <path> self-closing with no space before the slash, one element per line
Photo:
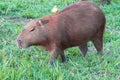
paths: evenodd
<path fill-rule="evenodd" d="M 120 1 L 100 6 L 107 18 L 104 55 L 97 55 L 93 44 L 85 57 L 77 57 L 77 47 L 65 50 L 69 59 L 48 63 L 43 48 L 19 49 L 16 37 L 31 18 L 51 14 L 79 0 L 0 0 L 0 80 L 120 80 Z M 91 0 L 99 4 L 99 0 Z"/>

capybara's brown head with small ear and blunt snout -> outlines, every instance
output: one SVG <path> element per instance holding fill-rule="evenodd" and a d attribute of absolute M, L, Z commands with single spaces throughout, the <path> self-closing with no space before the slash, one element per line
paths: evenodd
<path fill-rule="evenodd" d="M 46 41 L 47 32 L 45 24 L 48 20 L 35 19 L 30 21 L 17 37 L 17 43 L 20 48 L 26 48 L 31 45 L 40 45 Z"/>

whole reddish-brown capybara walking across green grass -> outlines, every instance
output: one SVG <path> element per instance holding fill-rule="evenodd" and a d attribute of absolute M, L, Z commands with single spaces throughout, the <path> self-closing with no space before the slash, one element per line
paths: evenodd
<path fill-rule="evenodd" d="M 30 21 L 18 35 L 20 48 L 41 45 L 50 52 L 50 64 L 60 55 L 66 60 L 64 50 L 79 46 L 86 54 L 87 42 L 92 41 L 98 54 L 103 54 L 105 16 L 94 3 L 81 1 L 69 5 L 56 14 Z"/>

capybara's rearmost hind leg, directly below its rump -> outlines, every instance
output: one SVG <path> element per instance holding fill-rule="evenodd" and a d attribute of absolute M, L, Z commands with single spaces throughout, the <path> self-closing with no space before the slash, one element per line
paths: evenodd
<path fill-rule="evenodd" d="M 103 42 L 102 42 L 102 39 L 100 38 L 96 38 L 94 39 L 93 41 L 93 44 L 97 50 L 97 53 L 102 55 L 103 54 Z"/>

